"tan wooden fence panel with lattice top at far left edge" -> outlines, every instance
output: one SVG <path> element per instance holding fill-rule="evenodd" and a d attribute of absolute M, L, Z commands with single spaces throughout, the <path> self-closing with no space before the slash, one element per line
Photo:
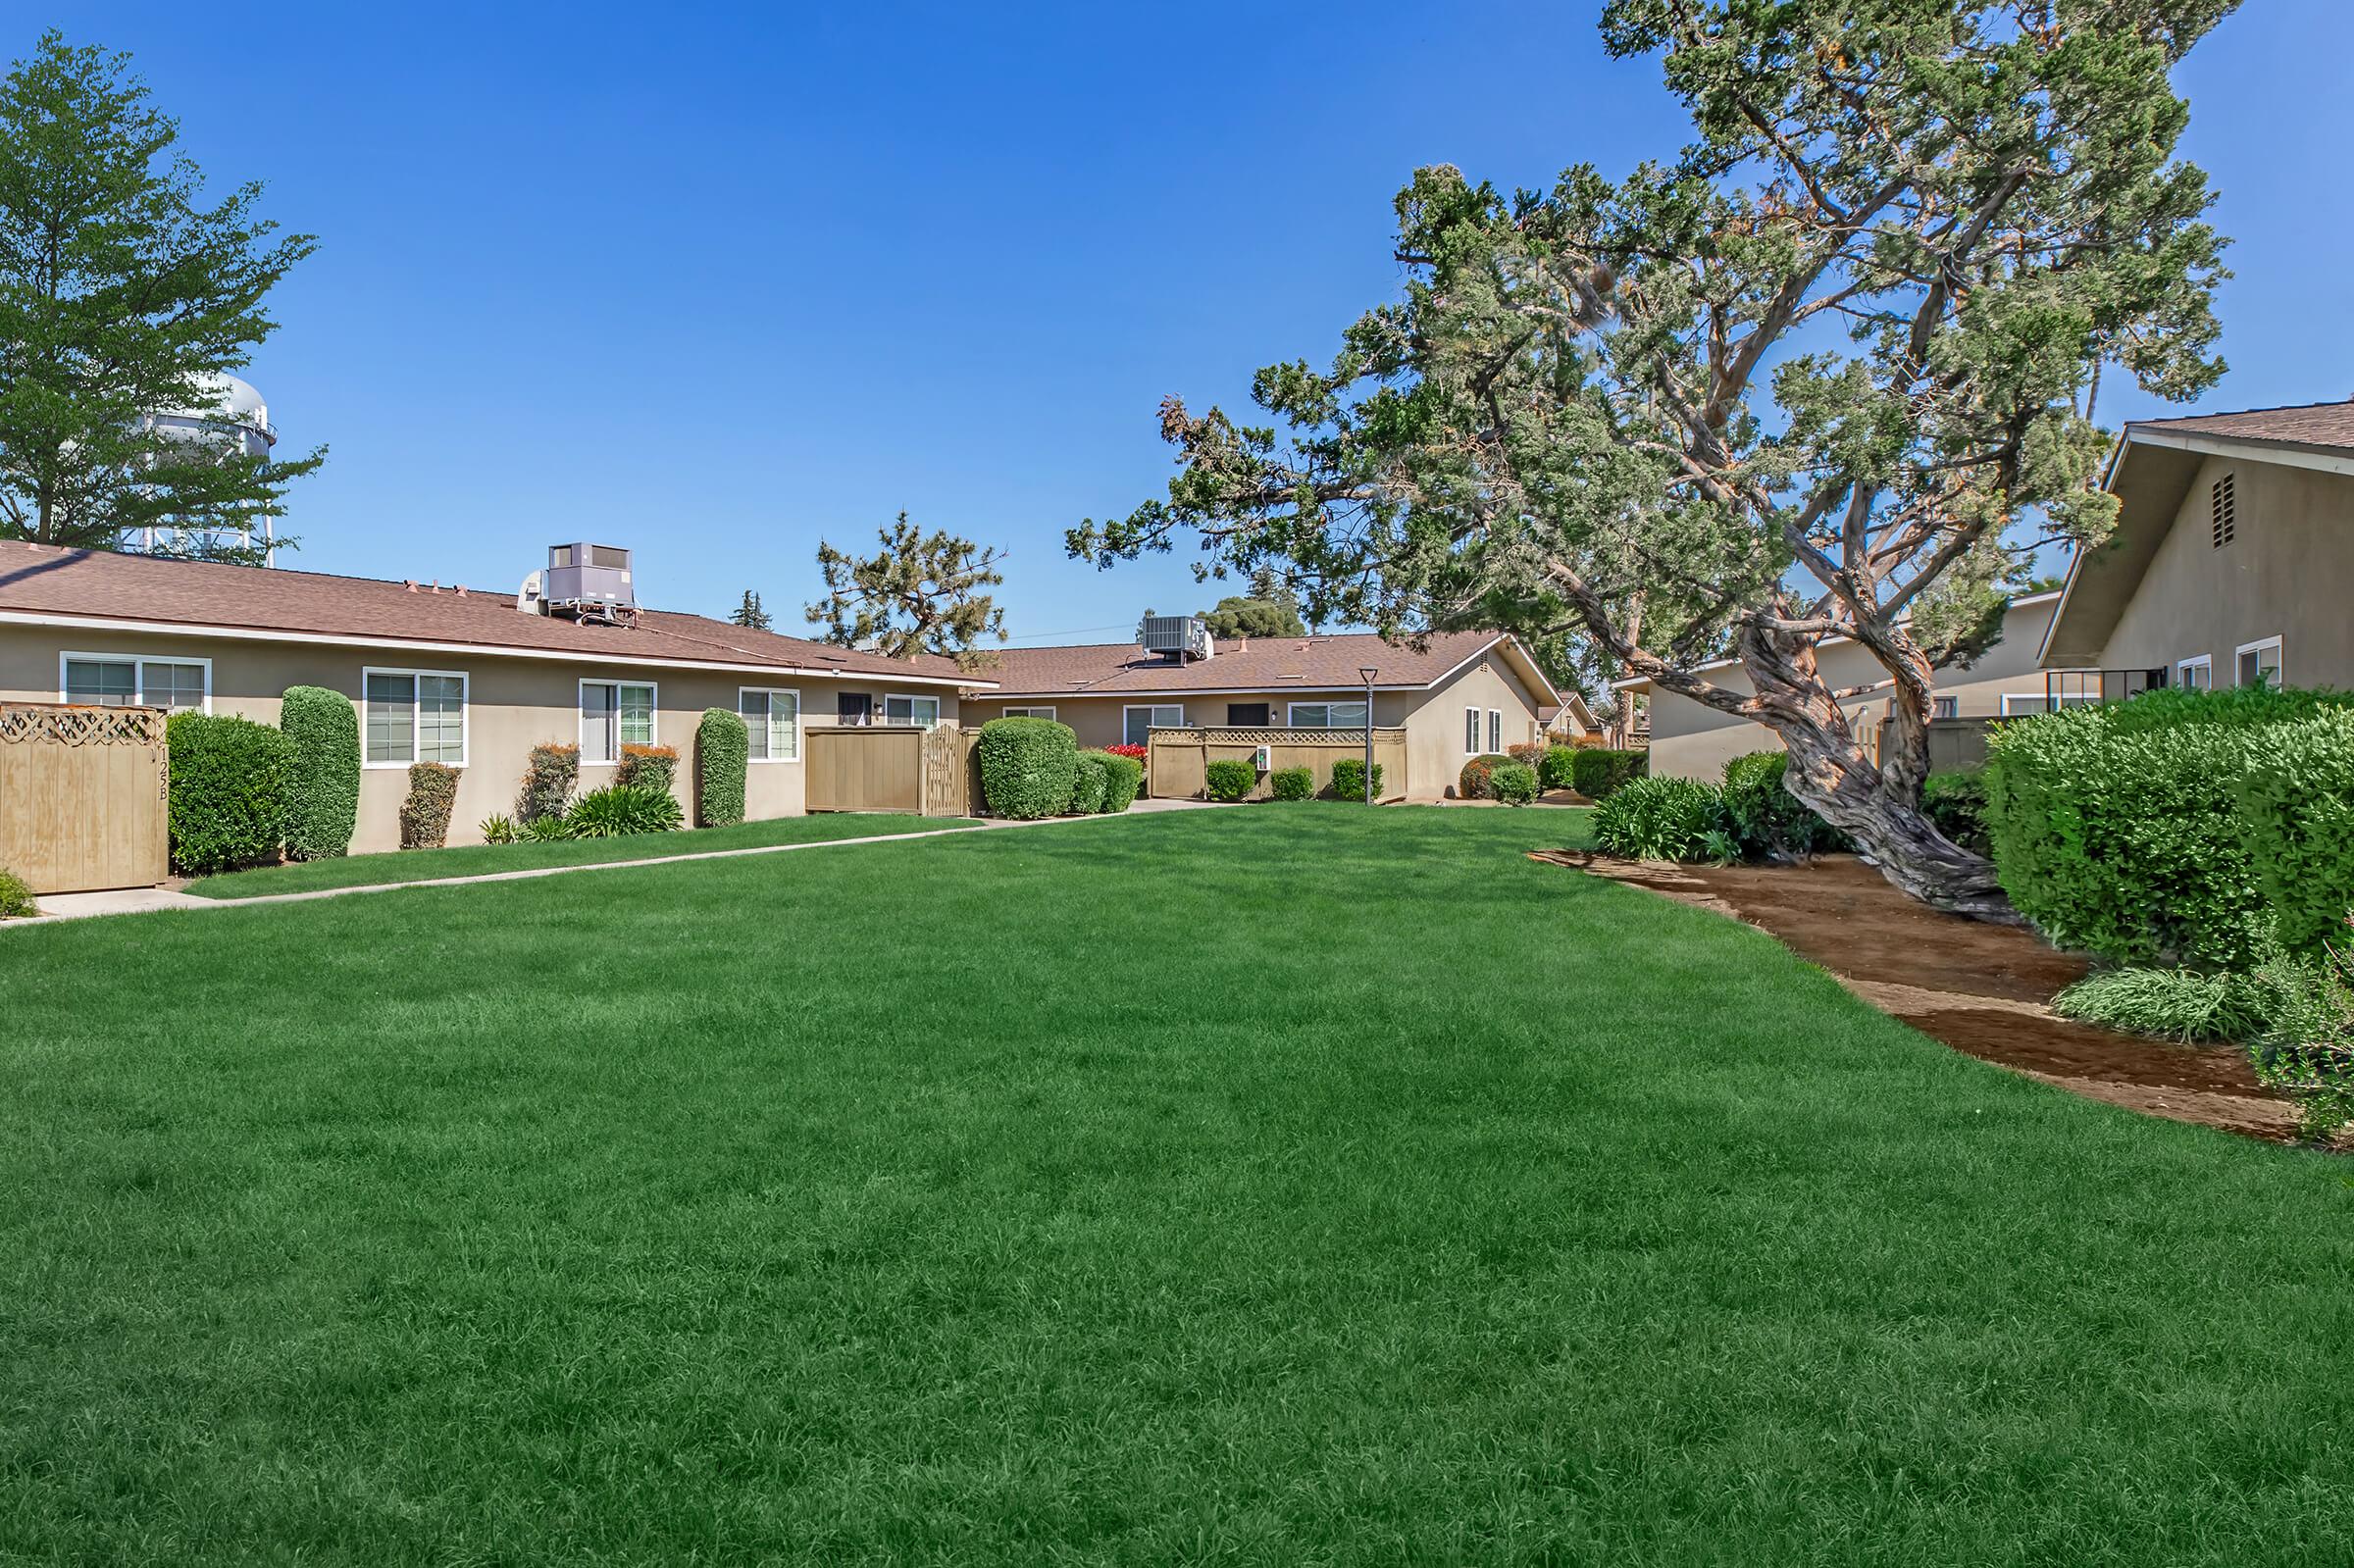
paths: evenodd
<path fill-rule="evenodd" d="M 0 704 L 0 866 L 33 892 L 153 888 L 169 864 L 162 709 Z"/>

